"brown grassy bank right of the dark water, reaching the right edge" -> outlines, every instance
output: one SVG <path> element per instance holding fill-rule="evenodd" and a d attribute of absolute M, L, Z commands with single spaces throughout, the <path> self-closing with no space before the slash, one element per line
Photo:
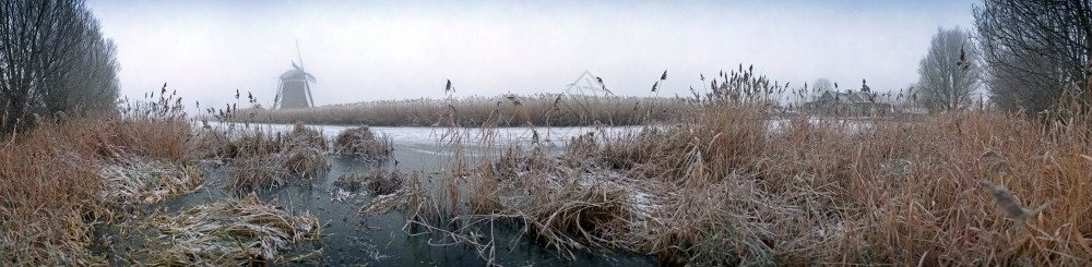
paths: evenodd
<path fill-rule="evenodd" d="M 495 223 L 569 255 L 628 250 L 695 265 L 1081 265 L 1092 259 L 1092 124 L 972 110 L 915 119 L 799 117 L 747 104 L 681 124 L 510 149 L 446 184 L 407 184 L 407 230 L 477 247 Z M 451 129 L 446 136 L 462 136 Z M 375 209 L 376 204 L 366 206 Z"/>

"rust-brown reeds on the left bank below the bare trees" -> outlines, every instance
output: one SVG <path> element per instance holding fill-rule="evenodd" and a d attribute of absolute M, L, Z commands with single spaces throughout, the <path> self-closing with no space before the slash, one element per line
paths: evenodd
<path fill-rule="evenodd" d="M 0 265 L 105 265 L 105 258 L 91 251 L 94 226 L 114 219 L 112 205 L 105 204 L 118 197 L 156 199 L 195 186 L 191 173 L 176 172 L 186 162 L 190 125 L 175 99 L 166 95 L 124 102 L 120 113 L 58 113 L 38 120 L 33 130 L 3 135 Z M 130 162 L 138 158 L 178 165 Z M 138 181 L 156 178 L 128 172 L 133 168 L 173 174 Z M 111 192 L 118 185 L 128 193 Z M 167 193 L 149 193 L 163 186 Z"/>

